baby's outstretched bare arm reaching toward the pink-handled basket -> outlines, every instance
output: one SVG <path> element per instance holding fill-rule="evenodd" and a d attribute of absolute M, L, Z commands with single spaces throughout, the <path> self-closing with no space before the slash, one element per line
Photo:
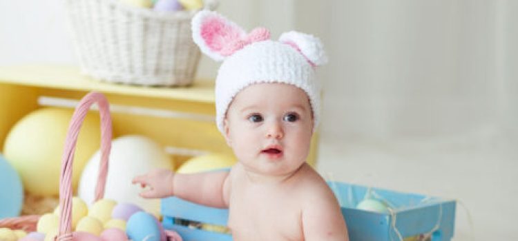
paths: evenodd
<path fill-rule="evenodd" d="M 169 169 L 157 169 L 133 178 L 148 190 L 143 198 L 176 196 L 190 202 L 210 207 L 227 208 L 229 197 L 229 171 L 209 171 L 200 174 L 175 174 Z"/>

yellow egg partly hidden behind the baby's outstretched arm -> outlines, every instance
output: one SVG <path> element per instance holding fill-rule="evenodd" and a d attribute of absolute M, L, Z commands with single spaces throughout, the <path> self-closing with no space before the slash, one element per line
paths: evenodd
<path fill-rule="evenodd" d="M 207 154 L 195 156 L 186 160 L 186 162 L 176 171 L 179 174 L 193 174 L 202 171 L 232 167 L 236 162 L 237 160 L 233 156 L 225 154 Z"/>

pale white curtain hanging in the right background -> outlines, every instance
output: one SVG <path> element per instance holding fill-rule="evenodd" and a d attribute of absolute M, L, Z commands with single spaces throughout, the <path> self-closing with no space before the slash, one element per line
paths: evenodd
<path fill-rule="evenodd" d="M 517 128 L 516 1 L 326 2 L 323 134 Z"/>

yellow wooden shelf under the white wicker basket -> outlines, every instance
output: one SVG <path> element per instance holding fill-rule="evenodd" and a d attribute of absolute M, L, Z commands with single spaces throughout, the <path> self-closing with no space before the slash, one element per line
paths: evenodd
<path fill-rule="evenodd" d="M 115 136 L 139 134 L 167 147 L 232 153 L 213 121 L 213 81 L 194 81 L 189 87 L 122 85 L 85 76 L 77 66 L 52 64 L 0 66 L 0 148 L 19 119 L 42 107 L 38 104 L 41 96 L 79 101 L 90 91 L 105 94 L 112 107 L 148 108 L 155 113 L 113 111 Z M 176 117 L 163 116 L 165 112 Z M 204 120 L 193 118 L 199 114 Z M 311 164 L 316 160 L 317 143 L 318 134 L 311 144 Z"/>

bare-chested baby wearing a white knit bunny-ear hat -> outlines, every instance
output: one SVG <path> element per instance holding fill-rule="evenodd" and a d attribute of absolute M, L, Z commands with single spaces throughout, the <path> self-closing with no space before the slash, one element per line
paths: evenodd
<path fill-rule="evenodd" d="M 223 61 L 216 122 L 239 161 L 230 171 L 137 176 L 149 187 L 141 196 L 228 208 L 233 240 L 349 240 L 334 194 L 306 163 L 320 108 L 314 68 L 326 62 L 320 41 L 300 32 L 271 41 L 265 28 L 247 34 L 207 10 L 193 18 L 193 39 Z"/>

